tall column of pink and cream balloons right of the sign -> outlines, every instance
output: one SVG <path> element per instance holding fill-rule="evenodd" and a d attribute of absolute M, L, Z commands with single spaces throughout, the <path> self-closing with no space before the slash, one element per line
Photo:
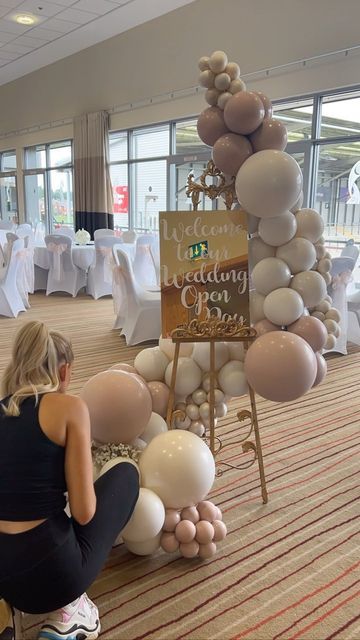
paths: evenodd
<path fill-rule="evenodd" d="M 302 206 L 302 173 L 285 153 L 287 131 L 273 118 L 261 91 L 248 91 L 226 53 L 199 60 L 199 83 L 210 105 L 199 116 L 201 140 L 215 165 L 235 178 L 247 212 L 250 317 L 259 335 L 245 358 L 244 375 L 263 397 L 294 400 L 326 373 L 323 349 L 339 336 L 340 316 L 327 294 L 330 254 L 324 225 Z"/>

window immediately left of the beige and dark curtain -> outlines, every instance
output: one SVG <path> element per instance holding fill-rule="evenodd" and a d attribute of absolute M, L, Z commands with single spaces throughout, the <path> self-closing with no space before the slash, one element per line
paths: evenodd
<path fill-rule="evenodd" d="M 25 216 L 48 231 L 74 226 L 72 144 L 70 141 L 25 149 Z"/>

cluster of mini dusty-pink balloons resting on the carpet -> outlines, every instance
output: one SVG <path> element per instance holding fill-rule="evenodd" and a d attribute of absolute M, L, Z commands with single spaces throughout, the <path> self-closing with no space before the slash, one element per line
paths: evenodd
<path fill-rule="evenodd" d="M 165 511 L 160 545 L 167 553 L 180 551 L 184 558 L 199 556 L 207 560 L 215 555 L 216 542 L 224 540 L 226 534 L 219 507 L 210 500 L 203 500 L 181 511 Z"/>

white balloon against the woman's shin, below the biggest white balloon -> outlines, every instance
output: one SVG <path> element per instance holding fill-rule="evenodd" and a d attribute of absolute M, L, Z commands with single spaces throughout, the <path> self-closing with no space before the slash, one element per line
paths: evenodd
<path fill-rule="evenodd" d="M 142 455 L 145 454 L 145 451 Z M 131 518 L 121 532 L 124 542 L 127 540 L 144 542 L 155 538 L 161 531 L 164 520 L 165 507 L 162 500 L 154 491 L 141 488 Z"/>

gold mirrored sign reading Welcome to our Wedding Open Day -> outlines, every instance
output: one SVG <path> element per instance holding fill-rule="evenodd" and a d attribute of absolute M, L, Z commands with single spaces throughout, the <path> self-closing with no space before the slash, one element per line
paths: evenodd
<path fill-rule="evenodd" d="M 162 335 L 180 324 L 249 318 L 246 213 L 160 213 Z"/>

